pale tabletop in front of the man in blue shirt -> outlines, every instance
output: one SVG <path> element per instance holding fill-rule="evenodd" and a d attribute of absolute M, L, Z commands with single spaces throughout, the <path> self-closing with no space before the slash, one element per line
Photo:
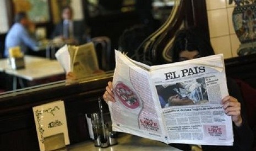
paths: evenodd
<path fill-rule="evenodd" d="M 0 71 L 13 75 L 13 90 L 17 89 L 17 79 L 29 81 L 43 79 L 54 75 L 65 74 L 57 60 L 50 60 L 44 57 L 24 56 L 25 68 L 12 69 L 8 59 L 0 60 Z M 20 80 L 21 81 L 21 80 Z M 21 84 L 22 87 L 23 84 Z"/>

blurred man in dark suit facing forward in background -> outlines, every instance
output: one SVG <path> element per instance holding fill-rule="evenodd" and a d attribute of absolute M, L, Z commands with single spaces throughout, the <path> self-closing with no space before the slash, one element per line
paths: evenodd
<path fill-rule="evenodd" d="M 83 44 L 86 42 L 84 22 L 73 20 L 71 7 L 66 6 L 62 9 L 62 20 L 56 25 L 52 38 L 56 41 L 61 39 L 69 44 Z"/>

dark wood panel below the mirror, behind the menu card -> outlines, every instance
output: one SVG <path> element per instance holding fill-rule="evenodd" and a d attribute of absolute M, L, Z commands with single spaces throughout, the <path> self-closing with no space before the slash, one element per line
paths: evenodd
<path fill-rule="evenodd" d="M 109 80 L 112 78 L 1 98 L 1 150 L 39 150 L 32 107 L 56 100 L 65 104 L 70 144 L 89 140 L 85 114 L 99 112 L 98 97 Z M 108 112 L 106 103 L 104 111 Z"/>

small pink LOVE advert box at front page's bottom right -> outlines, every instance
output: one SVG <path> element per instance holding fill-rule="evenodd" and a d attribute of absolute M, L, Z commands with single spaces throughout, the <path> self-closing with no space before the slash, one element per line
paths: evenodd
<path fill-rule="evenodd" d="M 226 138 L 225 125 L 204 125 L 205 136 L 215 138 Z"/>

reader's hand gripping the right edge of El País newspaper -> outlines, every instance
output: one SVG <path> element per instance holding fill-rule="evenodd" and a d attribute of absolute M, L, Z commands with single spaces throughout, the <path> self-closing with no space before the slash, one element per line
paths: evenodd
<path fill-rule="evenodd" d="M 232 116 L 232 121 L 236 126 L 241 126 L 243 119 L 241 117 L 241 104 L 235 97 L 226 96 L 221 100 L 222 107 L 227 115 Z"/>

